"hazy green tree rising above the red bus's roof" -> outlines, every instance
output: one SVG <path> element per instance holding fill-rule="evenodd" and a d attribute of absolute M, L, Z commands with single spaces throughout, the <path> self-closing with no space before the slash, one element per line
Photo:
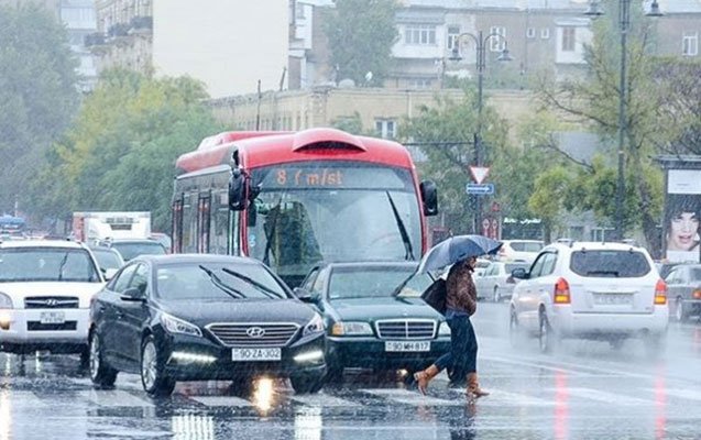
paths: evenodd
<path fill-rule="evenodd" d="M 325 25 L 331 65 L 337 80 L 350 78 L 357 85 L 382 86 L 392 64 L 392 45 L 397 41 L 395 0 L 343 0 L 336 2 Z M 365 75 L 372 73 L 368 80 Z"/>

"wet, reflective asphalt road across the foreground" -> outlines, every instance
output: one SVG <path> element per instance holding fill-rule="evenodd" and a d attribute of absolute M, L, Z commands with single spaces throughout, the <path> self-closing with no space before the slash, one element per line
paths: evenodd
<path fill-rule="evenodd" d="M 701 323 L 672 323 L 665 355 L 638 341 L 566 342 L 554 355 L 507 340 L 507 306 L 480 304 L 478 367 L 492 395 L 468 405 L 445 376 L 420 396 L 398 376 L 350 372 L 295 396 L 282 381 L 252 393 L 227 383 L 143 394 L 136 376 L 94 389 L 74 356 L 0 354 L 6 439 L 701 439 Z"/>

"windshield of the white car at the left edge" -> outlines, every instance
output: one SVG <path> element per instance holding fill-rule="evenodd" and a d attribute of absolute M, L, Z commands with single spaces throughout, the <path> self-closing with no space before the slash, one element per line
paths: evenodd
<path fill-rule="evenodd" d="M 0 250 L 0 282 L 100 282 L 83 249 L 20 248 Z"/>

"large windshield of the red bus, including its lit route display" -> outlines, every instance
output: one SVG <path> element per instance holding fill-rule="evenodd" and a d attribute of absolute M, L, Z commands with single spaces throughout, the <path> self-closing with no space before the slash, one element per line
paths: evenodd
<path fill-rule="evenodd" d="M 252 176 L 261 193 L 250 207 L 249 254 L 284 278 L 303 277 L 320 261 L 420 257 L 420 212 L 408 169 L 316 161 Z"/>

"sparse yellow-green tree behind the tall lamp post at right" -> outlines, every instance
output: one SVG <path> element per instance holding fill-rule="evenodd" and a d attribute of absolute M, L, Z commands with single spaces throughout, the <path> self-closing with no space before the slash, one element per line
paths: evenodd
<path fill-rule="evenodd" d="M 655 200 L 658 188 L 655 177 L 647 173 L 650 160 L 659 144 L 657 113 L 661 105 L 655 94 L 657 84 L 654 74 L 654 58 L 649 55 L 654 43 L 654 28 L 637 8 L 632 8 L 632 29 L 628 31 L 626 59 L 628 75 L 626 80 L 626 139 L 625 165 L 626 179 L 635 190 L 637 200 L 636 222 L 626 219 L 625 224 L 640 226 L 650 250 L 659 249 L 657 231 L 658 212 Z M 554 84 L 543 80 L 539 91 L 545 102 L 559 110 L 569 112 L 589 123 L 607 141 L 607 155 L 616 157 L 620 102 L 621 46 L 616 14 L 607 14 L 598 20 L 594 38 L 585 47 L 585 61 L 589 75 L 581 79 Z M 615 163 L 615 162 L 614 162 Z M 595 188 L 591 186 L 590 188 Z M 599 212 L 614 212 L 615 197 L 602 199 L 609 207 Z"/>

